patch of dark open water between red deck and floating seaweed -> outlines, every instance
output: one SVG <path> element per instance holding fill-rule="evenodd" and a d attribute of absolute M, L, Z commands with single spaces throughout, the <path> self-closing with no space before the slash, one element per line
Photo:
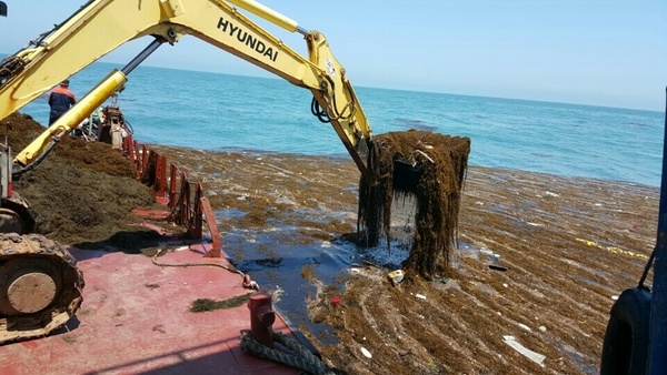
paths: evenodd
<path fill-rule="evenodd" d="M 409 250 L 400 241 L 392 241 L 390 250 L 385 243 L 372 249 L 358 249 L 342 237 L 331 242 L 312 240 L 308 244 L 289 244 L 286 240 L 302 239 L 298 230 L 290 225 L 276 225 L 272 231 L 262 232 L 236 229 L 225 234 L 222 247 L 235 266 L 248 273 L 261 291 L 279 294 L 276 308 L 295 327 L 306 327 L 323 344 L 335 344 L 334 331 L 325 324 L 312 323 L 309 317 L 307 302 L 315 297 L 317 287 L 303 277 L 305 267 L 327 287 L 335 286 L 342 293 L 351 266 L 372 263 L 398 267 Z"/>

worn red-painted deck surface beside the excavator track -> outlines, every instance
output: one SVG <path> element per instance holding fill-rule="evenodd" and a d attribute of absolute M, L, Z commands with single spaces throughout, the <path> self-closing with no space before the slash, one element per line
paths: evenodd
<path fill-rule="evenodd" d="M 158 266 L 146 255 L 73 250 L 83 272 L 77 317 L 48 337 L 0 346 L 0 374 L 299 374 L 240 348 L 249 330 L 246 304 L 190 312 L 198 298 L 228 300 L 249 291 L 241 275 L 217 266 Z M 215 263 L 201 245 L 158 263 Z M 273 330 L 291 333 L 279 315 Z"/>

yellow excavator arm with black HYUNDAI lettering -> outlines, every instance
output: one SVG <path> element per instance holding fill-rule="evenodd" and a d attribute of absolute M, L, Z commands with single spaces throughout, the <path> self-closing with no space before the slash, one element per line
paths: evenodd
<path fill-rule="evenodd" d="M 290 32 L 303 34 L 308 58 L 291 50 L 230 3 Z M 187 34 L 309 89 L 313 95 L 313 113 L 320 121 L 331 123 L 361 173 L 366 173 L 371 130 L 327 39 L 319 31 L 307 31 L 296 21 L 252 0 L 89 1 L 64 22 L 0 63 L 0 120 L 130 40 L 152 36 L 160 42 L 175 44 Z M 113 93 L 109 91 L 122 87 L 127 80 L 123 72 L 113 74 L 111 88 L 93 90 L 89 95 L 108 98 Z M 89 107 L 94 108 L 94 103 Z M 87 116 L 88 110 L 79 112 Z M 69 120 L 73 121 L 77 119 Z M 40 138 L 36 142 L 38 144 L 31 146 L 42 150 L 50 141 Z M 30 158 L 39 156 L 39 152 L 30 154 L 34 155 Z M 31 162 L 30 158 L 22 160 L 22 164 Z"/>

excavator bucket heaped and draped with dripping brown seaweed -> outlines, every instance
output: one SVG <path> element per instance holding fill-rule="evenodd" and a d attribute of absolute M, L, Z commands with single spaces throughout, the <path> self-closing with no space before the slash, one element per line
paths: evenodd
<path fill-rule="evenodd" d="M 392 215 L 405 217 L 406 206 L 411 206 L 407 222 L 414 236 L 407 265 L 427 280 L 434 270 L 447 268 L 469 153 L 468 138 L 422 131 L 375 136 L 359 184 L 360 243 L 376 246 L 385 235 L 389 246 L 392 230 L 398 232 L 395 237 L 404 239 L 400 232 L 408 225 Z"/>

